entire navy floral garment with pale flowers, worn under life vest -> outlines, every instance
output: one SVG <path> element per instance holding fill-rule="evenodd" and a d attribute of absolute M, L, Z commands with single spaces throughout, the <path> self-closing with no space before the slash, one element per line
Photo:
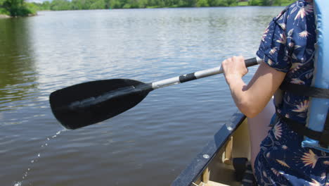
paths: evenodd
<path fill-rule="evenodd" d="M 312 0 L 291 4 L 266 28 L 257 56 L 276 70 L 287 73 L 283 81 L 311 85 L 314 71 L 316 24 Z M 305 123 L 309 97 L 290 92 L 275 97 L 276 111 Z M 259 185 L 329 186 L 329 154 L 302 148 L 304 137 L 279 120 L 261 144 L 254 165 Z"/>

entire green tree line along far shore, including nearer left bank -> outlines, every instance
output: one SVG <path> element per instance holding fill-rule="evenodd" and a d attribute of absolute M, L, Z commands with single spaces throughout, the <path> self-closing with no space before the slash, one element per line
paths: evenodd
<path fill-rule="evenodd" d="M 287 5 L 295 0 L 53 0 L 27 3 L 25 0 L 0 0 L 0 14 L 34 15 L 37 11 L 91 10 L 111 8 L 176 8 L 207 6 L 273 6 Z"/>

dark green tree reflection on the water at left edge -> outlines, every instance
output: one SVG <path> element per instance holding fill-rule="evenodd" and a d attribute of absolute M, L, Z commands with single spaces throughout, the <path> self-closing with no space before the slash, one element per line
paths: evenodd
<path fill-rule="evenodd" d="M 0 19 L 0 111 L 21 104 L 37 88 L 30 27 L 23 18 Z M 10 104 L 15 102 L 15 104 Z"/>

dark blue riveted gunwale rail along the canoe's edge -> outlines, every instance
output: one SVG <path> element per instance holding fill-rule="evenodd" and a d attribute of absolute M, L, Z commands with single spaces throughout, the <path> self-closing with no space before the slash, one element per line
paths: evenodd
<path fill-rule="evenodd" d="M 230 140 L 233 132 L 243 123 L 245 116 L 236 112 L 214 135 L 202 151 L 181 171 L 181 174 L 172 182 L 172 186 L 189 186 L 197 180 L 209 163 L 218 154 L 223 145 Z M 206 157 L 206 158 L 205 158 Z M 209 157 L 209 158 L 208 158 Z"/>

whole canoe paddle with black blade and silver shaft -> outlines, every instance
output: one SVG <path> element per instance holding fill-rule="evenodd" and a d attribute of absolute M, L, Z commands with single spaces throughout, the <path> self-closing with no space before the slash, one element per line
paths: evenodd
<path fill-rule="evenodd" d="M 259 61 L 259 58 L 250 58 L 245 60 L 245 65 L 254 66 Z M 67 129 L 77 129 L 131 109 L 153 89 L 219 73 L 223 73 L 221 66 L 151 83 L 128 79 L 83 82 L 56 90 L 51 93 L 49 101 L 57 120 Z"/>

